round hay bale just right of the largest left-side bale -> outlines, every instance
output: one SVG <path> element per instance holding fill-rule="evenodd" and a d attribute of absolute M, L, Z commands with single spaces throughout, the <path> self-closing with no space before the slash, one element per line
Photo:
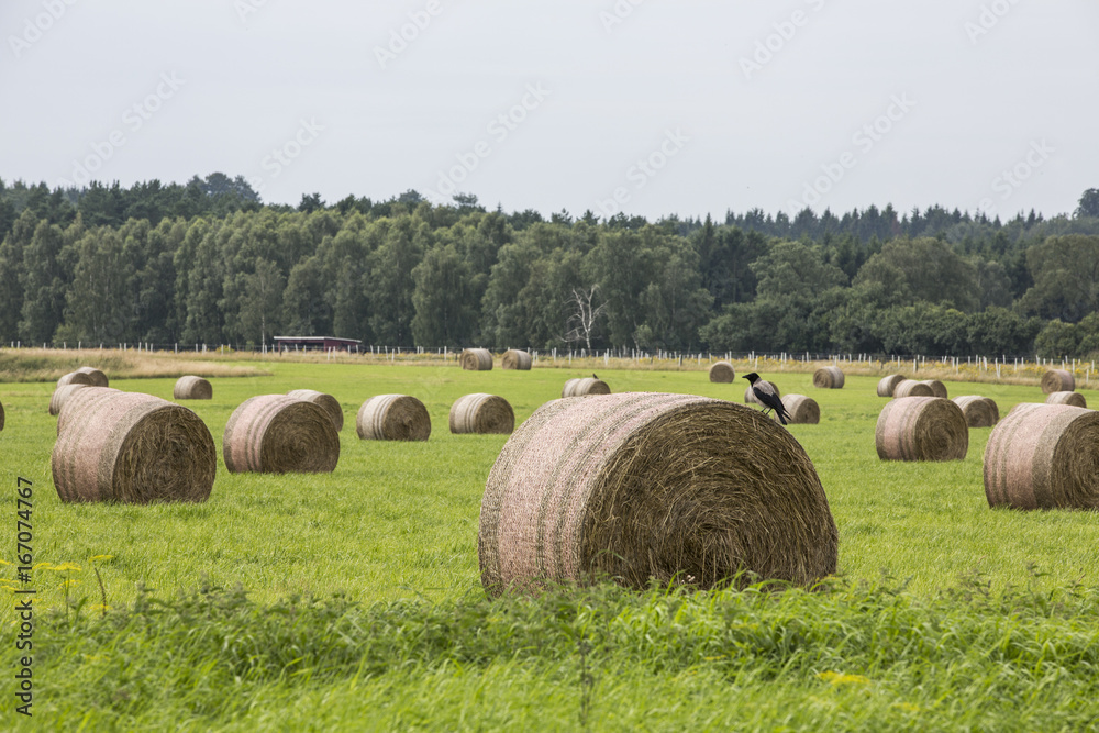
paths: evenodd
<path fill-rule="evenodd" d="M 340 433 L 312 402 L 260 395 L 230 415 L 222 451 L 233 474 L 329 473 L 340 460 Z"/>

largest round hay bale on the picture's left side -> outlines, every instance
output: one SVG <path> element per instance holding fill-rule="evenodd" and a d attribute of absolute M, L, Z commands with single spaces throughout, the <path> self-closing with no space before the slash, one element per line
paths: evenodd
<path fill-rule="evenodd" d="M 95 407 L 63 414 L 68 421 L 51 457 L 62 501 L 206 501 L 218 449 L 190 410 L 137 392 L 98 391 Z M 87 391 L 87 390 L 86 390 Z"/>

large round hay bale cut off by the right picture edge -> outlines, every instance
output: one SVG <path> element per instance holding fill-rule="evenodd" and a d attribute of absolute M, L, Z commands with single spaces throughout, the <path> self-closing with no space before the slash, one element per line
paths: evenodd
<path fill-rule="evenodd" d="M 1099 412 L 1019 404 L 988 436 L 989 507 L 1099 509 Z"/>

